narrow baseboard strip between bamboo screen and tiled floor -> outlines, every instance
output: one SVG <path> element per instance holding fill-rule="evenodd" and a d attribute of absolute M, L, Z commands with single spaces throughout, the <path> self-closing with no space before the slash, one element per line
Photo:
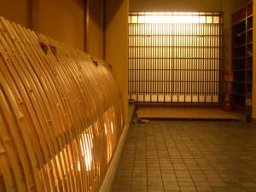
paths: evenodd
<path fill-rule="evenodd" d="M 119 143 L 117 145 L 117 148 L 115 149 L 113 158 L 108 166 L 108 171 L 107 171 L 106 176 L 102 182 L 102 186 L 101 186 L 99 192 L 112 192 L 112 190 L 113 190 L 113 184 L 115 181 L 115 173 L 119 166 L 119 160 L 121 158 L 122 150 L 125 145 L 125 140 L 127 137 L 127 133 L 129 131 L 129 126 L 130 126 L 130 122 L 125 125 L 122 135 L 119 138 Z"/>

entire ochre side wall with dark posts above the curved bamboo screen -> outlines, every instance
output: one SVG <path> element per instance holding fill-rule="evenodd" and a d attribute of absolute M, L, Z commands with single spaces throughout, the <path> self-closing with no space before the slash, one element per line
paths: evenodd
<path fill-rule="evenodd" d="M 103 0 L 0 0 L 0 15 L 104 58 Z"/>

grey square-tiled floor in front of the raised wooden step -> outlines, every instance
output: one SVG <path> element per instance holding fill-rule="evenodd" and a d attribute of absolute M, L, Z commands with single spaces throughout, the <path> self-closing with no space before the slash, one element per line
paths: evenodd
<path fill-rule="evenodd" d="M 256 192 L 256 129 L 249 126 L 131 124 L 113 192 Z"/>

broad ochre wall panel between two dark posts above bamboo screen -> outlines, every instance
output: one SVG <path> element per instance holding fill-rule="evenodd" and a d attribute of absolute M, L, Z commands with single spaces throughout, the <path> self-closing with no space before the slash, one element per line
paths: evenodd
<path fill-rule="evenodd" d="M 34 0 L 34 31 L 84 50 L 83 0 Z"/>

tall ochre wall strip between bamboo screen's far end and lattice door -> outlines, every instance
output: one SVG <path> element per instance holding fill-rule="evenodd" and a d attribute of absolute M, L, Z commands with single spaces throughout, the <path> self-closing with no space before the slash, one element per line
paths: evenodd
<path fill-rule="evenodd" d="M 125 119 L 128 115 L 128 0 L 108 0 L 106 5 L 106 61 L 123 95 Z"/>

